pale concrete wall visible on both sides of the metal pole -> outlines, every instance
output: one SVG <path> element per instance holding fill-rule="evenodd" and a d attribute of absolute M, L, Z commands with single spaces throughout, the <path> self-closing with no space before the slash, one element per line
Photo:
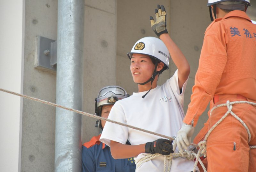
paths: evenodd
<path fill-rule="evenodd" d="M 55 103 L 56 74 L 34 68 L 37 36 L 57 40 L 56 0 L 26 1 L 24 94 Z M 116 1 L 85 1 L 83 111 L 94 114 L 94 98 L 116 84 Z M 96 119 L 83 117 L 83 142 L 99 134 Z M 55 108 L 23 102 L 21 171 L 54 171 Z"/>

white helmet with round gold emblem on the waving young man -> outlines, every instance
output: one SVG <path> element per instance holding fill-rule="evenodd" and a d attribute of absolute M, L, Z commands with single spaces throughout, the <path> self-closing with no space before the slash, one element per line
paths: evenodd
<path fill-rule="evenodd" d="M 144 37 L 138 40 L 130 53 L 128 53 L 128 57 L 131 59 L 132 54 L 145 54 L 149 57 L 159 60 L 164 63 L 164 68 L 161 70 L 169 69 L 169 58 L 170 54 L 167 47 L 164 45 L 164 42 L 161 39 L 156 37 Z"/>

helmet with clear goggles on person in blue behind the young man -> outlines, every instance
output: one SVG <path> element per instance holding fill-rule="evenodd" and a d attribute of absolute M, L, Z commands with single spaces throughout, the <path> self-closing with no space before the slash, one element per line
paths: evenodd
<path fill-rule="evenodd" d="M 95 114 L 101 116 L 102 106 L 115 104 L 116 101 L 126 97 L 129 97 L 129 95 L 122 87 L 116 85 L 103 87 L 100 90 L 98 97 L 95 98 Z M 99 126 L 103 129 L 100 120 L 97 120 L 95 127 Z"/>

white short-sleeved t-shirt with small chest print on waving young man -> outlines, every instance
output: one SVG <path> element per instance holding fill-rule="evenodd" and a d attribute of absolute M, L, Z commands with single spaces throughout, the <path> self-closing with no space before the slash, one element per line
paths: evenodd
<path fill-rule="evenodd" d="M 178 85 L 178 70 L 162 86 L 148 91 L 133 93 L 132 96 L 117 101 L 112 107 L 108 119 L 124 124 L 143 128 L 166 136 L 176 136 L 184 118 L 183 101 L 187 81 L 182 87 L 182 93 Z M 139 145 L 157 140 L 161 137 L 141 132 L 132 128 L 124 127 L 114 123 L 106 122 L 101 134 L 100 141 L 110 146 L 110 140 L 125 144 L 127 140 L 132 145 Z M 175 150 L 177 152 L 178 149 Z M 148 155 L 141 153 L 134 158 L 138 162 Z M 168 167 L 168 162 L 167 166 Z M 172 159 L 172 172 L 193 171 L 194 161 L 186 158 Z M 144 162 L 137 172 L 164 171 L 164 155 Z"/>

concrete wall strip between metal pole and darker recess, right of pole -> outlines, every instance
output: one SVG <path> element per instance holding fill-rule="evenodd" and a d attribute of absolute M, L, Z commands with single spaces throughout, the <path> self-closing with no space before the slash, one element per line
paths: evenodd
<path fill-rule="evenodd" d="M 116 0 L 85 1 L 83 111 L 94 114 L 100 89 L 116 84 Z M 83 116 L 83 143 L 100 130 Z"/>

